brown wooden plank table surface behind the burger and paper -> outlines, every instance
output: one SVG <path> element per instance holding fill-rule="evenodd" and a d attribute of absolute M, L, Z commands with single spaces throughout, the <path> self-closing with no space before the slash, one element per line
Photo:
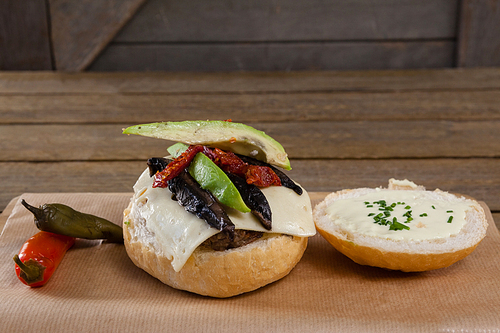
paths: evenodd
<path fill-rule="evenodd" d="M 0 210 L 25 192 L 131 192 L 170 142 L 122 128 L 229 118 L 282 143 L 308 191 L 407 178 L 486 202 L 500 225 L 500 68 L 0 72 Z"/>

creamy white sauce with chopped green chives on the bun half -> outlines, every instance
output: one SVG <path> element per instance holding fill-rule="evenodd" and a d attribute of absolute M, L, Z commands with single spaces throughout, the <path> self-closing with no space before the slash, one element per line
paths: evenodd
<path fill-rule="evenodd" d="M 452 195 L 444 200 L 431 191 L 378 188 L 357 197 L 336 200 L 326 208 L 326 214 L 347 232 L 418 241 L 458 234 L 471 207 L 470 200 Z M 399 230 L 391 230 L 394 218 Z"/>

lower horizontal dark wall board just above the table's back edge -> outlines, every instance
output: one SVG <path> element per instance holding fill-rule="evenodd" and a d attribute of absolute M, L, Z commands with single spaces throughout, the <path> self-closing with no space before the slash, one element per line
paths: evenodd
<path fill-rule="evenodd" d="M 452 67 L 452 41 L 111 43 L 90 71 L 293 71 Z"/>

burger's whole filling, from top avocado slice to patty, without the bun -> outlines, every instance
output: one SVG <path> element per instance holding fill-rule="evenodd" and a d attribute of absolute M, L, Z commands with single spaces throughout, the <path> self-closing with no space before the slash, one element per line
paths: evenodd
<path fill-rule="evenodd" d="M 314 234 L 310 223 L 289 220 L 309 221 L 310 200 L 277 168 L 290 170 L 290 161 L 264 132 L 227 121 L 185 121 L 136 125 L 123 133 L 178 142 L 167 149 L 172 160 L 148 160 L 150 177 L 146 170 L 134 186 L 137 206 L 132 210 L 148 216 L 144 222 L 155 237 L 168 239 L 164 251 L 174 258 L 174 269 L 202 243 L 225 250 L 251 243 L 264 232 Z M 194 219 L 174 218 L 180 212 L 168 198 Z M 181 225 L 181 220 L 190 222 Z"/>

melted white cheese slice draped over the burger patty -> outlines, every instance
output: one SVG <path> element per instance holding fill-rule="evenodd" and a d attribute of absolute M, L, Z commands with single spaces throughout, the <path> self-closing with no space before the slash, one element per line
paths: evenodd
<path fill-rule="evenodd" d="M 131 214 L 134 221 L 145 224 L 148 234 L 139 235 L 148 239 L 161 254 L 172 260 L 175 271 L 179 271 L 193 251 L 205 240 L 219 231 L 196 215 L 186 212 L 167 188 L 153 188 L 153 178 L 145 170 L 134 185 Z M 271 186 L 262 189 L 272 212 L 272 230 L 267 231 L 251 213 L 226 209 L 236 229 L 309 237 L 316 233 L 312 220 L 311 201 L 306 191 L 296 194 L 289 188 Z M 144 232 L 144 228 L 133 228 L 131 232 Z M 138 236 L 132 234 L 132 237 Z"/>

